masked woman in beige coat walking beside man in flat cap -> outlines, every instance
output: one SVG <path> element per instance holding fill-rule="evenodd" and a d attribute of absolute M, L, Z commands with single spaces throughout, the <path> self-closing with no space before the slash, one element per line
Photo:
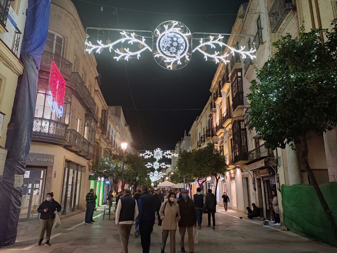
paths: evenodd
<path fill-rule="evenodd" d="M 168 233 L 170 233 L 170 250 L 176 252 L 176 230 L 177 222 L 180 220 L 179 205 L 176 201 L 176 194 L 170 192 L 168 197 L 161 204 L 159 210 L 161 222 L 161 253 L 164 253 Z"/>

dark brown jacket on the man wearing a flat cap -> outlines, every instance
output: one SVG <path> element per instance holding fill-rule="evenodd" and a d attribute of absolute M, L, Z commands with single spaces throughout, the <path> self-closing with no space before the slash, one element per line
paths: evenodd
<path fill-rule="evenodd" d="M 182 197 L 177 201 L 180 211 L 179 227 L 191 227 L 196 224 L 194 202 L 188 197 L 187 201 Z"/>

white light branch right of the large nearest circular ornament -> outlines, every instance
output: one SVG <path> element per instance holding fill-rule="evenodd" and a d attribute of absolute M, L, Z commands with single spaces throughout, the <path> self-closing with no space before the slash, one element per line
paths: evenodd
<path fill-rule="evenodd" d="M 241 58 L 250 58 L 255 59 L 256 58 L 256 49 L 255 45 L 253 44 L 253 47 L 249 51 L 244 51 L 245 46 L 241 46 L 240 49 L 232 48 L 231 46 L 227 45 L 226 43 L 223 43 L 223 35 L 218 34 L 215 36 L 207 36 L 207 38 L 201 38 L 199 40 L 200 44 L 196 46 L 196 48 L 193 49 L 193 53 L 195 51 L 199 51 L 204 55 L 205 60 L 212 60 L 215 63 L 229 63 L 229 55 L 235 55 L 235 53 L 238 53 Z M 208 53 L 206 52 L 207 46 L 210 46 L 211 49 L 214 49 L 214 53 Z M 219 47 L 219 50 L 217 51 L 216 48 Z M 229 53 L 225 52 L 229 50 Z"/>

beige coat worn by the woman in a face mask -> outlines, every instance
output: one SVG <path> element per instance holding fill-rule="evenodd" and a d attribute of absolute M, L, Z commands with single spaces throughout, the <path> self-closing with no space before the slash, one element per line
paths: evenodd
<path fill-rule="evenodd" d="M 176 218 L 180 218 L 179 205 L 177 201 L 174 201 L 172 205 L 168 203 L 168 199 L 165 199 L 161 204 L 159 215 L 161 221 L 162 230 L 177 230 Z"/>

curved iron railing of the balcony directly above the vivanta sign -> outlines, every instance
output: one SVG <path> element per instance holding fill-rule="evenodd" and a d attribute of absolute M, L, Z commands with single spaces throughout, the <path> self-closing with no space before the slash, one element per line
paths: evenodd
<path fill-rule="evenodd" d="M 67 140 L 68 125 L 55 120 L 34 117 L 33 135 Z"/>

